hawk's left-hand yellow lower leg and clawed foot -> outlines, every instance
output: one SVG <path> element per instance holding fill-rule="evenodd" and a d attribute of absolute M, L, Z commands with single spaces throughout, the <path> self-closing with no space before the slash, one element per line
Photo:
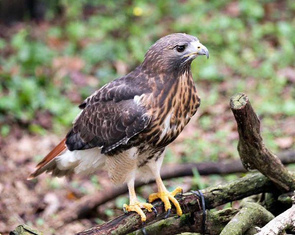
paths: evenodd
<path fill-rule="evenodd" d="M 143 224 L 147 220 L 147 217 L 142 209 L 147 209 L 149 212 L 153 211 L 157 216 L 157 210 L 150 203 L 141 203 L 137 200 L 134 190 L 134 180 L 129 181 L 127 186 L 129 190 L 130 203 L 129 206 L 127 204 L 123 205 L 124 213 L 127 213 L 127 211 L 136 211 L 141 216 Z"/>

